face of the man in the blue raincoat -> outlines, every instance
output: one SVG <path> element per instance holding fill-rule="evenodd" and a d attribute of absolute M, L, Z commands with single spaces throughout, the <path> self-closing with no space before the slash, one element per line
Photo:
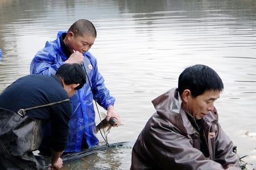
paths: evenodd
<path fill-rule="evenodd" d="M 71 36 L 69 37 L 69 50 L 71 50 L 71 53 L 73 53 L 73 50 L 79 51 L 80 53 L 87 52 L 92 45 L 94 44 L 94 41 L 96 37 L 88 36 L 84 34 L 84 36 Z"/>

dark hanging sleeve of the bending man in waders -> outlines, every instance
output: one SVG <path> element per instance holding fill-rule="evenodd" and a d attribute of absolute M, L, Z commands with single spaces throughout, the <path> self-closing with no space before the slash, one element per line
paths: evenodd
<path fill-rule="evenodd" d="M 60 152 L 63 151 L 68 142 L 69 134 L 69 120 L 72 115 L 71 101 L 64 102 L 63 104 L 54 105 L 51 115 L 51 146 L 52 150 Z"/>

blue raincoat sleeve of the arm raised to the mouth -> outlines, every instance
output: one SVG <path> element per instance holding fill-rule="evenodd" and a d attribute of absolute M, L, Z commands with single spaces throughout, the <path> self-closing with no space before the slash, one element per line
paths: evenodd
<path fill-rule="evenodd" d="M 56 70 L 64 64 L 63 61 L 57 61 L 57 55 L 53 49 L 52 51 L 48 48 L 40 50 L 31 61 L 30 74 L 54 75 Z"/>

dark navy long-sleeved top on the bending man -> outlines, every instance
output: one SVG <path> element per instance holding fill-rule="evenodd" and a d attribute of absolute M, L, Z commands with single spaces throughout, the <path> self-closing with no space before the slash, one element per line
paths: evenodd
<path fill-rule="evenodd" d="M 19 78 L 0 95 L 0 108 L 18 112 L 39 105 L 49 104 L 68 99 L 62 83 L 55 76 L 27 75 Z M 72 114 L 71 101 L 32 109 L 26 112 L 26 116 L 50 121 L 52 126 L 52 149 L 63 151 L 67 145 L 69 125 Z"/>

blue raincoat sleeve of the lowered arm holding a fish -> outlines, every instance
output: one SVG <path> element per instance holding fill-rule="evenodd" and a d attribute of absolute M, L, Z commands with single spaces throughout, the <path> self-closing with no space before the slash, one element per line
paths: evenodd
<path fill-rule="evenodd" d="M 115 98 L 110 96 L 108 88 L 104 83 L 104 78 L 98 71 L 97 61 L 94 65 L 94 73 L 92 76 L 92 90 L 98 104 L 107 109 L 110 105 L 114 105 Z"/>

